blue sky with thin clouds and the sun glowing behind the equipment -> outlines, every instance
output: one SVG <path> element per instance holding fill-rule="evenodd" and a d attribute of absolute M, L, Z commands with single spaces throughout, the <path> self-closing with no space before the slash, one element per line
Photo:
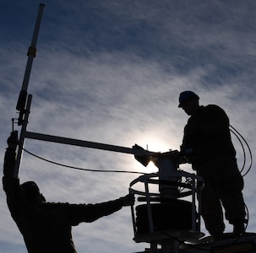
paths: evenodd
<path fill-rule="evenodd" d="M 95 143 L 166 152 L 182 143 L 188 116 L 184 90 L 200 104 L 221 106 L 254 155 L 256 149 L 256 2 L 254 0 L 2 0 L 0 2 L 0 166 L 17 118 L 27 50 L 45 3 L 28 86 L 27 130 Z M 14 124 L 20 133 L 20 126 Z M 232 135 L 237 163 L 242 146 Z M 38 140 L 25 148 L 51 161 L 89 170 L 157 171 L 132 154 Z M 246 148 L 246 168 L 250 164 Z M 188 164 L 182 170 L 193 173 Z M 128 194 L 132 173 L 74 170 L 24 153 L 19 178 L 35 180 L 49 202 L 96 203 Z M 256 232 L 255 164 L 244 176 L 248 232 Z M 137 202 L 136 202 L 137 204 Z M 0 251 L 26 252 L 0 193 Z M 202 231 L 207 235 L 202 224 Z M 226 232 L 231 227 L 226 223 Z M 138 252 L 131 210 L 73 228 L 78 252 Z"/>

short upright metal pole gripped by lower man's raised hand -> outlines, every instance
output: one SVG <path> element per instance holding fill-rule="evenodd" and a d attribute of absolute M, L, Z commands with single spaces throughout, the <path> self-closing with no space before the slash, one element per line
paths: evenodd
<path fill-rule="evenodd" d="M 19 135 L 19 149 L 18 149 L 17 159 L 14 167 L 14 178 L 17 178 L 19 175 L 19 165 L 22 159 L 23 147 L 25 145 L 25 132 L 29 122 L 31 100 L 32 100 L 32 95 L 29 94 L 28 102 L 25 110 L 25 119 L 22 122 L 21 131 Z"/>

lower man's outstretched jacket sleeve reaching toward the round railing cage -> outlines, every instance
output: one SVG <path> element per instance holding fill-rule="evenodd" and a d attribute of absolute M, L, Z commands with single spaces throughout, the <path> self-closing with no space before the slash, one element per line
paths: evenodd
<path fill-rule="evenodd" d="M 70 216 L 72 225 L 78 225 L 81 222 L 91 223 L 103 216 L 117 212 L 123 207 L 123 200 L 117 199 L 109 202 L 97 204 L 71 204 Z"/>

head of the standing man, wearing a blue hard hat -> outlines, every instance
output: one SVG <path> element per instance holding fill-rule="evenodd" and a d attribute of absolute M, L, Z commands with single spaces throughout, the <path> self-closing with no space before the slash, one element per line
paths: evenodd
<path fill-rule="evenodd" d="M 179 96 L 179 108 L 182 108 L 189 116 L 192 116 L 199 109 L 199 95 L 193 91 L 183 91 Z"/>

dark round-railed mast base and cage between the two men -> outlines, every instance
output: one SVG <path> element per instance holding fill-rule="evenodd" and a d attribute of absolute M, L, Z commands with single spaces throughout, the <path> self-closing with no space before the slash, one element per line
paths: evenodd
<path fill-rule="evenodd" d="M 139 145 L 133 148 L 143 149 Z M 163 252 L 178 252 L 179 241 L 195 242 L 203 237 L 200 191 L 204 180 L 178 170 L 178 165 L 184 162 L 182 154 L 174 150 L 148 157 L 136 155 L 135 159 L 144 166 L 154 162 L 159 172 L 141 175 L 130 183 L 130 191 L 142 202 L 132 208 L 133 240 L 150 243 L 150 252 L 155 252 L 157 245 L 161 245 Z"/>

